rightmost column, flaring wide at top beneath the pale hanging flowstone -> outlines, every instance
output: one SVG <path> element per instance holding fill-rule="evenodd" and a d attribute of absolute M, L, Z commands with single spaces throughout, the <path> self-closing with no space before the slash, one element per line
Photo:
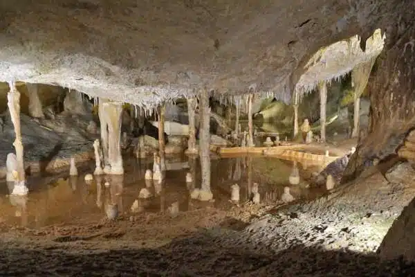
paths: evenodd
<path fill-rule="evenodd" d="M 353 84 L 353 100 L 354 100 L 354 111 L 353 111 L 353 132 L 351 133 L 352 138 L 359 136 L 359 119 L 360 119 L 360 96 L 365 91 L 367 81 L 371 73 L 371 69 L 374 66 L 376 57 L 372 57 L 367 62 L 362 62 L 355 66 L 351 71 L 351 80 Z"/>

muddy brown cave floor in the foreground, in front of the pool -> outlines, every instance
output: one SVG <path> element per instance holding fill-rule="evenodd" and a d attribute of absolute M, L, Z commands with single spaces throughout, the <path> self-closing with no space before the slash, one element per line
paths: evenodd
<path fill-rule="evenodd" d="M 351 145 L 341 141 L 333 150 Z M 272 173 L 254 169 L 253 179 L 272 181 L 264 177 Z M 374 167 L 351 184 L 291 205 L 277 198 L 234 205 L 221 196 L 208 204 L 192 200 L 172 217 L 167 207 L 133 214 L 132 200 L 124 200 L 117 220 L 68 208 L 26 227 L 10 220 L 13 207 L 0 216 L 0 276 L 412 276 L 412 264 L 382 260 L 375 251 L 415 196 L 413 185 L 391 185 Z M 87 202 L 95 202 L 91 195 Z M 62 214 L 70 220 L 54 220 Z"/>

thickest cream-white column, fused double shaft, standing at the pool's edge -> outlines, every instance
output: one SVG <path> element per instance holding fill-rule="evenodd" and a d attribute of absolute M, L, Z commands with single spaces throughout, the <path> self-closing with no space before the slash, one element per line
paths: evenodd
<path fill-rule="evenodd" d="M 108 163 L 110 170 L 106 167 L 107 174 L 122 175 L 121 155 L 121 118 L 122 102 L 104 102 L 102 104 L 104 120 L 108 126 Z"/>

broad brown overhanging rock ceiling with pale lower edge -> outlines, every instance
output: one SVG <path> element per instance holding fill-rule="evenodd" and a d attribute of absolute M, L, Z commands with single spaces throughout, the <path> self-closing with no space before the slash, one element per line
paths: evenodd
<path fill-rule="evenodd" d="M 199 89 L 228 96 L 252 87 L 289 100 L 298 80 L 312 87 L 359 61 L 312 69 L 309 61 L 342 52 L 326 47 L 321 55 L 320 48 L 355 35 L 365 41 L 404 2 L 0 1 L 0 80 L 59 84 L 147 107 Z"/>

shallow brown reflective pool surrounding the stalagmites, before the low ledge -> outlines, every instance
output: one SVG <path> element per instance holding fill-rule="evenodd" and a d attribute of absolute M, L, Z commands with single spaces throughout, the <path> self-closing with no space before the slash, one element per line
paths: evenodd
<path fill-rule="evenodd" d="M 152 157 L 151 157 L 152 158 Z M 80 167 L 80 177 L 65 177 L 55 181 L 38 178 L 34 190 L 25 197 L 12 196 L 12 183 L 3 183 L 0 208 L 3 220 L 12 225 L 40 228 L 50 224 L 71 224 L 116 219 L 131 213 L 167 213 L 176 217 L 181 213 L 205 206 L 220 209 L 230 208 L 230 199 L 275 203 L 284 193 L 284 186 L 290 187 L 295 199 L 312 198 L 320 190 L 302 186 L 308 171 L 304 165 L 293 165 L 267 157 L 236 157 L 212 160 L 212 193 L 215 202 L 201 203 L 192 200 L 191 193 L 200 188 L 201 175 L 198 157 L 174 157 L 166 161 L 170 170 L 163 172 L 161 180 L 145 179 L 146 170 L 153 168 L 153 159 L 127 159 L 124 162 L 125 175 L 95 175 L 93 181 L 84 181 L 84 175 L 93 171 Z M 288 177 L 297 168 L 301 183 L 290 186 Z M 309 165 L 310 172 L 316 166 Z M 187 177 L 188 175 L 188 177 Z M 308 175 L 311 175 L 309 173 Z M 234 186 L 237 185 L 237 186 Z M 140 191 L 146 188 L 148 197 L 140 198 Z M 238 197 L 232 197 L 232 188 L 238 188 Z"/>

